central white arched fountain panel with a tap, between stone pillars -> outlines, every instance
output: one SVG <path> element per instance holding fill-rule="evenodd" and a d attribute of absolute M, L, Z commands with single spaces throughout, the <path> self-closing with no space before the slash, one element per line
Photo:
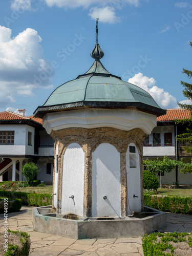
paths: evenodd
<path fill-rule="evenodd" d="M 120 217 L 120 153 L 102 143 L 92 157 L 92 217 Z"/>

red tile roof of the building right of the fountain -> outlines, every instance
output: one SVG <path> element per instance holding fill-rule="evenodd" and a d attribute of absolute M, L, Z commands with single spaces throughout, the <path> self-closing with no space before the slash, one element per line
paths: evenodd
<path fill-rule="evenodd" d="M 184 109 L 168 109 L 166 115 L 157 117 L 158 122 L 174 121 L 176 119 L 190 118 L 190 110 Z"/>

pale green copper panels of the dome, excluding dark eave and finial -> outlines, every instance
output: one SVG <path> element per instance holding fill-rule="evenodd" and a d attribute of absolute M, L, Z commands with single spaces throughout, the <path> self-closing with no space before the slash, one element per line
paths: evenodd
<path fill-rule="evenodd" d="M 44 106 L 90 101 L 141 102 L 159 108 L 150 94 L 134 84 L 111 75 L 100 61 L 95 61 L 84 75 L 58 87 Z"/>

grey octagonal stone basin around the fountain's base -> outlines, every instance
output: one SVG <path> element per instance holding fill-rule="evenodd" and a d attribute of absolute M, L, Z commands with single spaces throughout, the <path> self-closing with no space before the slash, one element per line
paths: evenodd
<path fill-rule="evenodd" d="M 66 215 L 52 211 L 51 206 L 33 208 L 32 222 L 35 231 L 73 239 L 108 239 L 143 237 L 145 233 L 152 233 L 167 226 L 166 212 L 150 207 L 144 207 L 144 212 L 138 216 L 78 217 L 78 220 L 63 218 Z"/>

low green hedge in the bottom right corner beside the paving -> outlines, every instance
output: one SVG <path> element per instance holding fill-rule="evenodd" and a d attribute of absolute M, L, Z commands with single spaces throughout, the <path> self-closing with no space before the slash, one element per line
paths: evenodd
<path fill-rule="evenodd" d="M 189 245 L 190 252 L 192 251 L 192 237 L 191 234 L 183 232 L 174 233 L 153 233 L 145 234 L 142 238 L 142 247 L 144 256 L 174 256 L 175 245 L 178 242 L 186 242 Z M 170 252 L 165 252 L 166 250 Z M 182 250 L 182 247 L 180 248 Z M 188 252 L 188 251 L 187 251 Z M 185 253 L 185 251 L 183 251 Z M 180 254 L 181 255 L 181 254 Z M 189 255 L 189 254 L 187 254 Z M 191 254 L 190 254 L 191 255 Z"/>

